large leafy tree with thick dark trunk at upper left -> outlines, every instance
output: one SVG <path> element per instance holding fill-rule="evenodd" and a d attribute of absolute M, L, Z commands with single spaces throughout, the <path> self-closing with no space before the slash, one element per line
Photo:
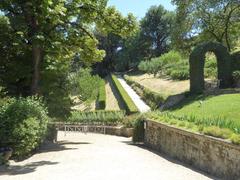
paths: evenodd
<path fill-rule="evenodd" d="M 7 18 L 11 44 L 31 60 L 31 94 L 39 93 L 43 71 L 76 53 L 87 65 L 102 60 L 105 53 L 97 48 L 93 27 L 121 35 L 131 29 L 130 20 L 108 8 L 107 0 L 4 0 L 0 11 Z"/>

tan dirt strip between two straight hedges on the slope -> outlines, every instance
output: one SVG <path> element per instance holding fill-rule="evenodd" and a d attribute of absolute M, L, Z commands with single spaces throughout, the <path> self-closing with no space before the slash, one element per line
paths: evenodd
<path fill-rule="evenodd" d="M 106 77 L 106 110 L 124 109 L 117 91 L 115 90 L 110 77 Z"/>

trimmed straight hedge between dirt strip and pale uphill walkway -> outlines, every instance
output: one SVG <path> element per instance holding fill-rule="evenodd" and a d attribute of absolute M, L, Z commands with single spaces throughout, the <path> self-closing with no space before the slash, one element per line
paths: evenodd
<path fill-rule="evenodd" d="M 128 93 L 122 87 L 122 85 L 118 81 L 117 77 L 115 75 L 111 74 L 111 78 L 112 78 L 114 86 L 116 87 L 118 93 L 120 94 L 120 97 L 124 103 L 127 113 L 128 114 L 137 113 L 139 111 L 137 106 L 134 104 L 132 99 L 129 97 Z"/>

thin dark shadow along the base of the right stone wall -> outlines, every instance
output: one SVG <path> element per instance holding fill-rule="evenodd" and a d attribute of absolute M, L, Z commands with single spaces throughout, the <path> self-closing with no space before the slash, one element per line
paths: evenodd
<path fill-rule="evenodd" d="M 155 151 L 155 150 L 153 150 L 153 149 L 150 149 L 150 148 L 148 148 L 147 146 L 145 146 L 144 143 L 142 143 L 142 142 L 141 142 L 141 143 L 133 143 L 132 141 L 121 141 L 121 142 L 122 142 L 122 143 L 125 143 L 125 144 L 127 144 L 127 145 L 130 145 L 130 146 L 136 146 L 136 147 L 139 147 L 139 148 L 141 148 L 141 149 L 143 149 L 143 150 L 146 150 L 146 151 L 148 151 L 148 152 L 154 153 L 154 154 L 156 154 L 156 155 L 158 155 L 158 156 L 161 156 L 162 158 L 166 159 L 167 161 L 169 161 L 169 162 L 171 162 L 171 163 L 178 164 L 178 165 L 180 165 L 180 166 L 184 166 L 184 167 L 186 167 L 186 168 L 188 168 L 188 169 L 191 169 L 192 171 L 195 171 L 195 172 L 197 172 L 197 173 L 200 173 L 200 174 L 202 174 L 202 175 L 204 175 L 204 176 L 206 176 L 206 177 L 208 177 L 208 178 L 210 178 L 210 179 L 219 180 L 219 179 L 216 178 L 216 177 L 213 177 L 213 176 L 211 176 L 211 175 L 209 175 L 209 174 L 207 174 L 207 173 L 205 173 L 205 172 L 203 172 L 203 171 L 201 171 L 201 170 L 198 170 L 198 169 L 196 169 L 195 167 L 192 167 L 192 166 L 190 166 L 190 165 L 188 165 L 188 164 L 186 164 L 186 163 L 184 163 L 184 162 L 180 162 L 180 161 L 178 161 L 177 159 L 174 159 L 174 158 L 172 158 L 172 157 L 170 157 L 170 156 L 168 156 L 168 155 L 166 155 L 166 154 L 164 154 L 164 153 L 161 153 L 161 152 Z"/>

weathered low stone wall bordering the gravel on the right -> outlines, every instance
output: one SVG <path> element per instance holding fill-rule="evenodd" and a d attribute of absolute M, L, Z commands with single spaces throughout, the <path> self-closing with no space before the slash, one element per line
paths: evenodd
<path fill-rule="evenodd" d="M 223 179 L 240 179 L 240 146 L 146 120 L 144 143 L 159 152 Z"/>

